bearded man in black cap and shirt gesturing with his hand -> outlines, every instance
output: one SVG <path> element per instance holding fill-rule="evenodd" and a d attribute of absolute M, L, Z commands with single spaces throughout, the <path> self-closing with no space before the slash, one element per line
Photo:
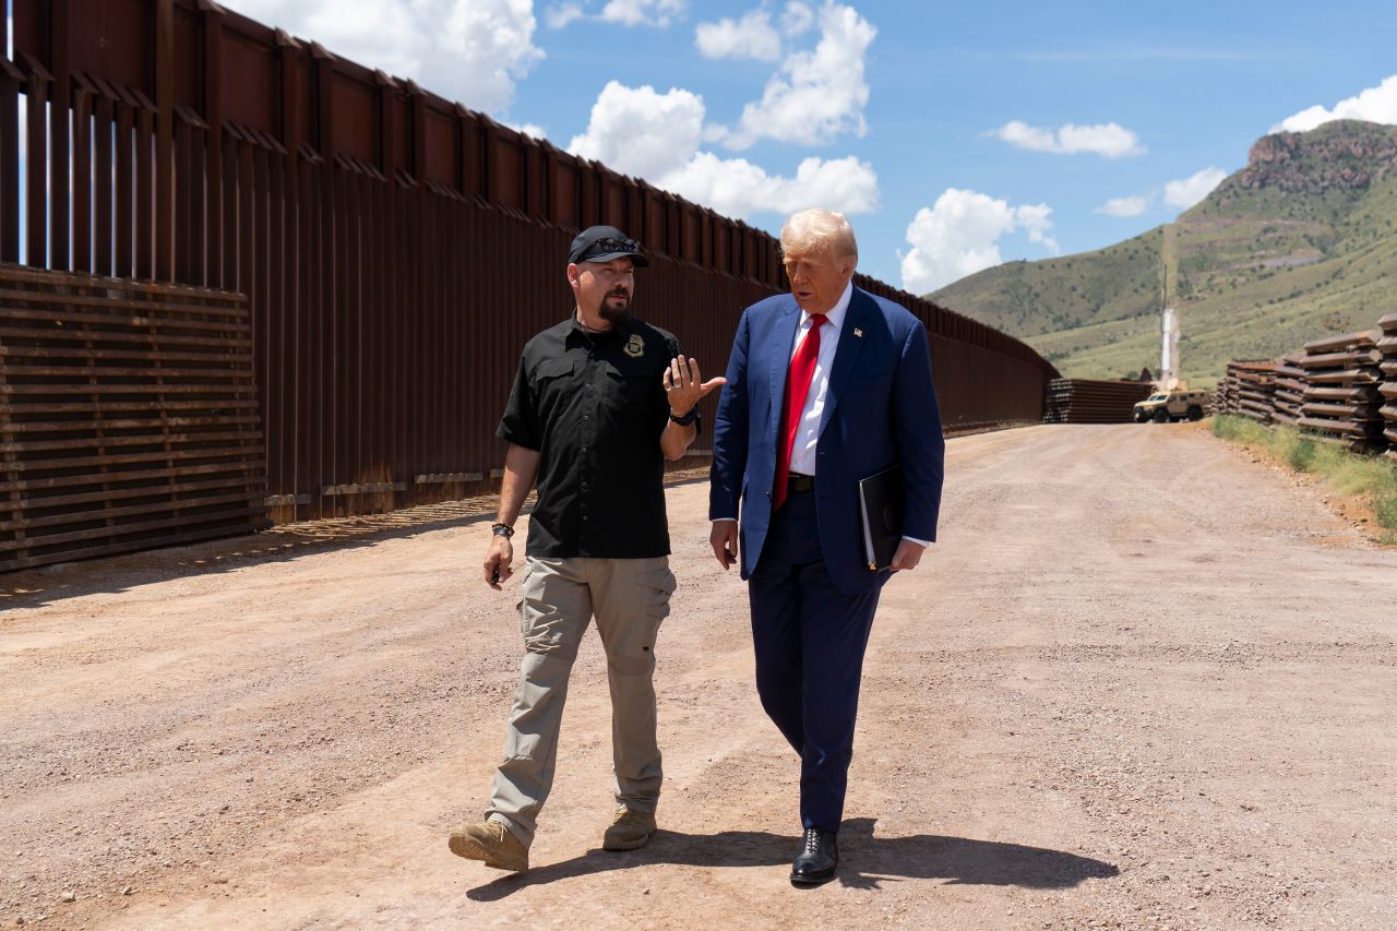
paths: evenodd
<path fill-rule="evenodd" d="M 521 630 L 525 656 L 504 760 L 485 821 L 451 832 L 453 853 L 527 869 L 538 812 L 553 784 L 567 679 L 591 616 L 606 649 L 616 811 L 606 850 L 643 847 L 655 832 L 655 635 L 669 614 L 664 460 L 697 435 L 703 382 L 669 333 L 631 317 L 640 246 L 615 226 L 574 240 L 573 315 L 524 347 L 496 435 L 509 442 L 485 582 L 513 575 L 514 520 L 538 481 L 529 519 Z"/>

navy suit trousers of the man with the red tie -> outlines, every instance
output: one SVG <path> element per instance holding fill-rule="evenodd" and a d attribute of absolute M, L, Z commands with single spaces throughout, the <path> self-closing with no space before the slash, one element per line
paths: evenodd
<path fill-rule="evenodd" d="M 816 493 L 791 495 L 773 516 L 747 594 L 757 695 L 800 755 L 800 821 L 838 830 L 882 586 L 862 594 L 834 587 L 820 552 Z"/>

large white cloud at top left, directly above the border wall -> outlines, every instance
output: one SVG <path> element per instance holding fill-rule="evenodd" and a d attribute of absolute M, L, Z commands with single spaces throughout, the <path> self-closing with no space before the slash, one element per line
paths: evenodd
<path fill-rule="evenodd" d="M 532 0 L 229 0 L 225 6 L 488 113 L 509 109 L 514 82 L 543 57 L 534 45 Z"/>

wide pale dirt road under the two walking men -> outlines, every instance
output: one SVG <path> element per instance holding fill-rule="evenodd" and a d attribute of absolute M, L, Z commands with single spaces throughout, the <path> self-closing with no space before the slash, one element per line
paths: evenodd
<path fill-rule="evenodd" d="M 520 656 L 488 519 L 0 579 L 0 927 L 1393 927 L 1397 552 L 1185 426 L 971 436 L 947 466 L 940 542 L 873 629 L 828 886 L 787 881 L 796 762 L 690 482 L 662 832 L 599 850 L 588 635 L 522 876 L 446 849 Z"/>

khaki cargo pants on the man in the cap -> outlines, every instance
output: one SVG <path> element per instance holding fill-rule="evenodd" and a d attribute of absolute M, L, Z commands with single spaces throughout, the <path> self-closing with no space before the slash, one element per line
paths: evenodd
<path fill-rule="evenodd" d="M 538 812 L 553 787 L 567 678 L 592 615 L 610 682 L 616 801 L 655 811 L 661 781 L 655 635 L 673 590 L 668 556 L 528 559 L 520 602 L 525 654 L 504 762 L 495 773 L 486 811 L 488 819 L 503 822 L 525 846 L 534 842 Z"/>

